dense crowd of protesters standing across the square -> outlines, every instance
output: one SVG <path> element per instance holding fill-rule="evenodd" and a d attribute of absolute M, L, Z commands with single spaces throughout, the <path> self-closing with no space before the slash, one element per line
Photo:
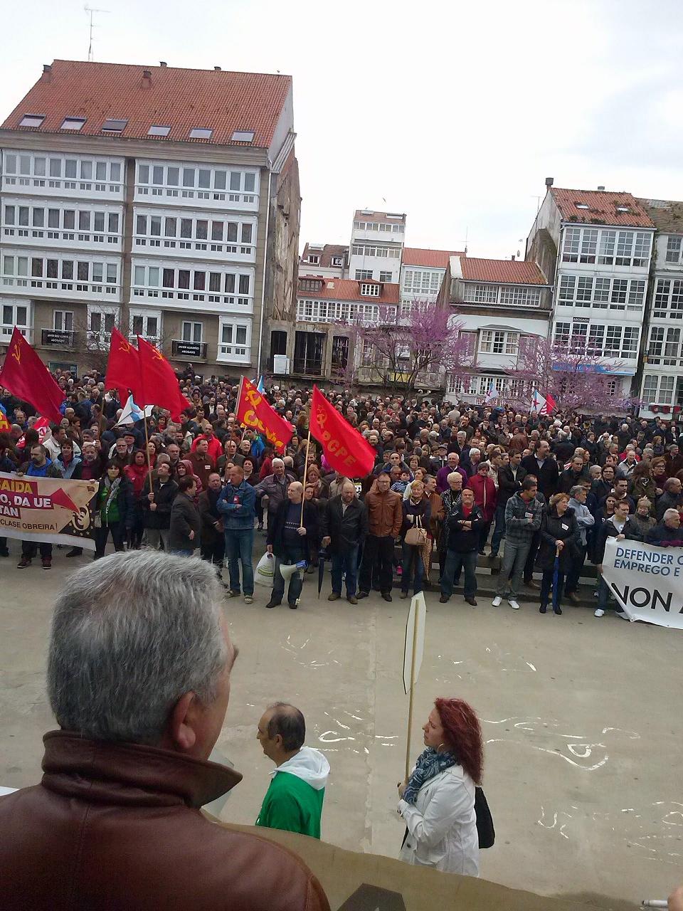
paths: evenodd
<path fill-rule="evenodd" d="M 229 597 L 248 603 L 254 533 L 265 531 L 274 557 L 269 608 L 286 597 L 294 609 L 300 599 L 301 573 L 285 579 L 280 567 L 306 562 L 311 570 L 320 557 L 331 558 L 331 600 L 342 598 L 342 585 L 352 604 L 372 589 L 391 600 L 397 580 L 401 598 L 438 586 L 446 602 L 462 577 L 464 599 L 475 605 L 475 568 L 486 557 L 499 570 L 494 606 L 506 600 L 518 609 L 524 585 L 542 613 L 551 604 L 561 613 L 563 599 L 577 603 L 582 568 L 594 564 L 601 617 L 610 605 L 599 574 L 607 537 L 683 544 L 683 424 L 675 421 L 343 390 L 331 401 L 375 453 L 368 476 L 347 478 L 309 445 L 311 389 L 266 392 L 294 429 L 277 453 L 240 426 L 237 385 L 202 381 L 191 366 L 178 382 L 191 407 L 178 423 L 156 409 L 146 434 L 142 422 L 117 425 L 121 403 L 97 374 L 58 376 L 64 418 L 43 445 L 30 405 L 5 392 L 0 404 L 12 427 L 0 436 L 0 466 L 100 480 L 96 559 L 109 535 L 117 550 L 199 552 L 217 571 L 227 565 Z M 24 542 L 20 568 L 37 547 Z M 50 544 L 39 548 L 50 568 Z M 7 556 L 5 540 L 0 553 Z"/>

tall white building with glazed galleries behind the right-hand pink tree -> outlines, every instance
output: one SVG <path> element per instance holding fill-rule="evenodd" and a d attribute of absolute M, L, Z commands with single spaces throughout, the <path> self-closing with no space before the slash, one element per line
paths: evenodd
<path fill-rule="evenodd" d="M 554 341 L 614 375 L 614 394 L 637 393 L 655 224 L 630 193 L 560 189 L 545 199 L 526 241 L 553 286 Z"/>

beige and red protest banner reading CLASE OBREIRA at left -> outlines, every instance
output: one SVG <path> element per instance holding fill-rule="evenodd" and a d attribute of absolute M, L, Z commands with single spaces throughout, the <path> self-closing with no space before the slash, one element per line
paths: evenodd
<path fill-rule="evenodd" d="M 0 472 L 0 537 L 95 550 L 97 481 Z"/>

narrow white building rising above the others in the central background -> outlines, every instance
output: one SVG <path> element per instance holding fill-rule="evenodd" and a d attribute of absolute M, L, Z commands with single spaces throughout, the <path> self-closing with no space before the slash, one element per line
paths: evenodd
<path fill-rule="evenodd" d="M 348 277 L 398 284 L 405 241 L 405 214 L 358 209 L 353 215 Z"/>

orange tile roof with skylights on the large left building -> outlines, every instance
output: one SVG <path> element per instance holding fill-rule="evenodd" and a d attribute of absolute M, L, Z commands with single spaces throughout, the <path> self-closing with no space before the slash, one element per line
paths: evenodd
<path fill-rule="evenodd" d="M 151 77 L 142 86 L 143 70 Z M 181 141 L 209 145 L 269 148 L 290 76 L 231 73 L 223 70 L 145 67 L 128 64 L 55 60 L 3 124 L 31 133 L 68 133 L 65 117 L 84 117 L 80 136 L 100 136 L 107 118 L 128 121 L 127 139 Z M 38 128 L 19 127 L 25 114 L 45 114 Z M 148 136 L 152 125 L 170 127 L 168 137 Z M 191 139 L 192 128 L 213 130 L 210 139 Z M 252 142 L 232 142 L 234 130 L 253 130 Z"/>

